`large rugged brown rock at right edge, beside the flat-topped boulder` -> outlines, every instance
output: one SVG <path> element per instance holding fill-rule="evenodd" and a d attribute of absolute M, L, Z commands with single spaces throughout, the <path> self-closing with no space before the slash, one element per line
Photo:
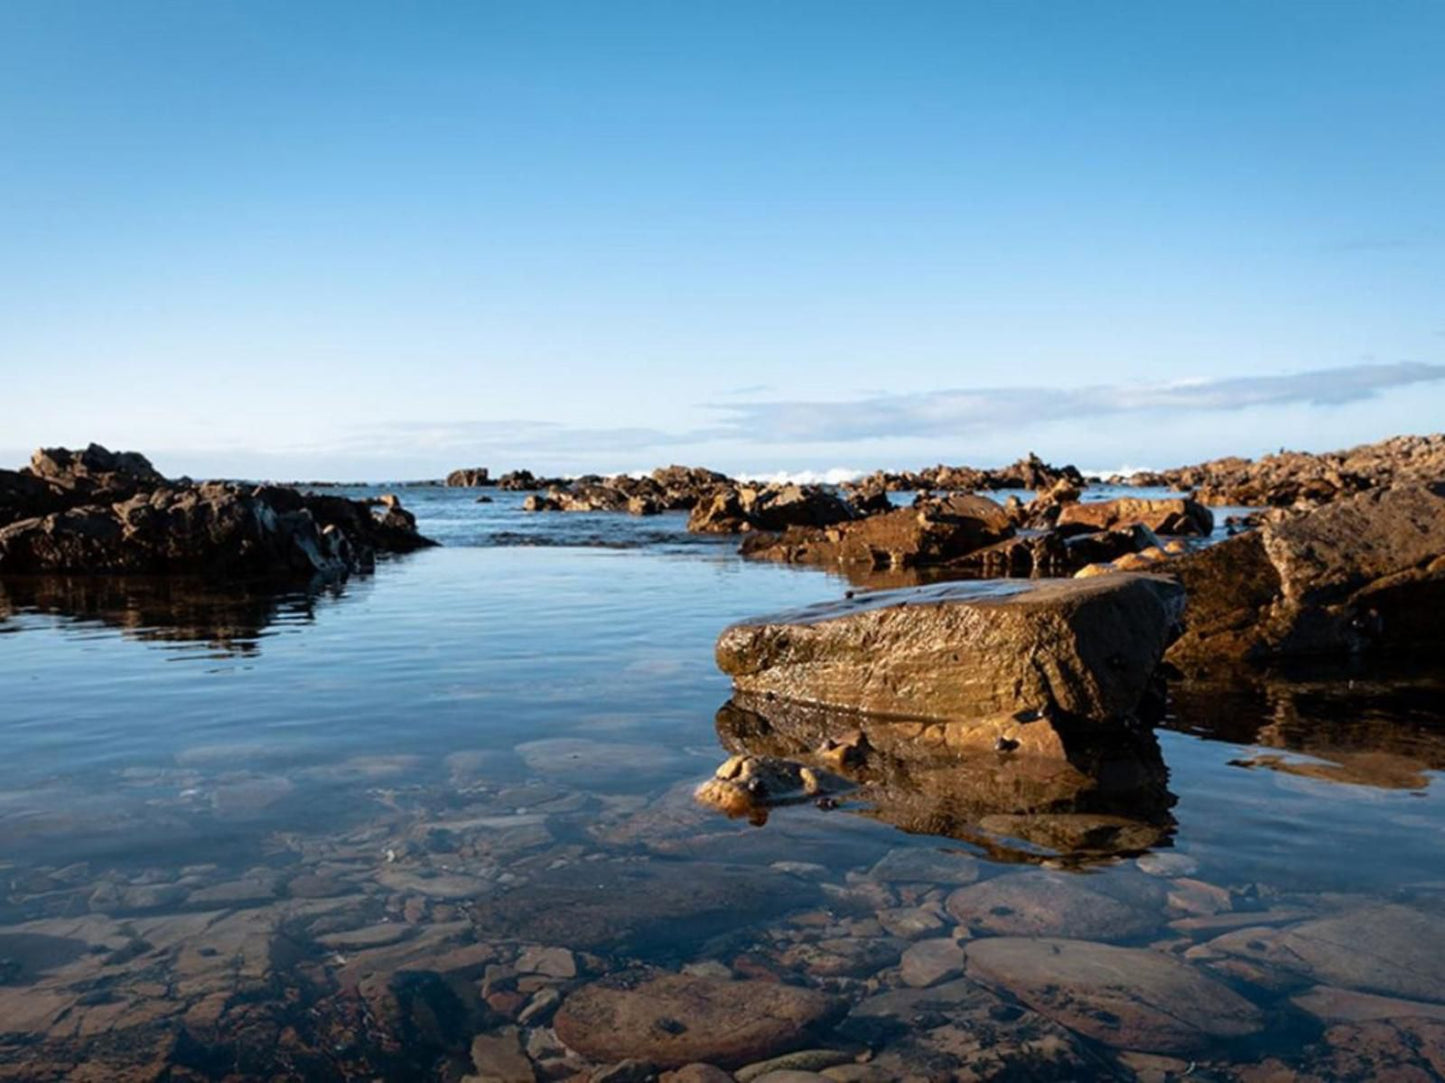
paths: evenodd
<path fill-rule="evenodd" d="M 1438 642 L 1445 483 L 1273 513 L 1166 567 L 1189 597 L 1179 664 Z"/>

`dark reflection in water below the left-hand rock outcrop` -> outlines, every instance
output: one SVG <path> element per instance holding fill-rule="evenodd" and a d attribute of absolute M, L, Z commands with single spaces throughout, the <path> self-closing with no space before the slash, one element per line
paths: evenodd
<path fill-rule="evenodd" d="M 325 588 L 340 597 L 338 584 Z M 277 620 L 311 620 L 321 587 L 276 590 L 191 577 L 12 575 L 0 578 L 0 626 L 19 613 L 97 620 L 146 641 L 195 641 L 250 654 Z"/>

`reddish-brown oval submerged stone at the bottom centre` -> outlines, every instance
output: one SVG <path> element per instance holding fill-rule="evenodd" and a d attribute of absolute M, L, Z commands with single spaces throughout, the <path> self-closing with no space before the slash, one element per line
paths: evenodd
<path fill-rule="evenodd" d="M 553 1027 L 569 1048 L 591 1060 L 737 1067 L 806 1045 L 811 1030 L 841 1011 L 812 989 L 662 975 L 633 988 L 584 986 L 564 1001 Z"/>

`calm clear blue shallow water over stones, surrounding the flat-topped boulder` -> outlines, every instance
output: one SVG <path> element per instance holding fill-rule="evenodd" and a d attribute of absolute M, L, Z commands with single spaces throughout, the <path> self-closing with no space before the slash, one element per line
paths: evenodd
<path fill-rule="evenodd" d="M 1178 685 L 1156 740 L 1066 778 L 900 756 L 876 800 L 753 827 L 692 788 L 789 735 L 720 711 L 712 641 L 847 584 L 681 516 L 494 496 L 405 490 L 448 548 L 319 596 L 6 584 L 0 1077 L 455 1077 L 478 1034 L 566 1077 L 607 1057 L 527 1012 L 639 967 L 838 996 L 811 1044 L 877 1079 L 1370 1077 L 1431 1048 L 1335 1016 L 1445 1002 L 1438 667 Z M 1302 947 L 1341 928 L 1334 963 Z M 962 962 L 1036 936 L 1178 970 L 1061 1005 Z M 1188 1016 L 1181 973 L 1243 996 L 1247 1038 L 1140 1022 L 1149 998 Z"/>

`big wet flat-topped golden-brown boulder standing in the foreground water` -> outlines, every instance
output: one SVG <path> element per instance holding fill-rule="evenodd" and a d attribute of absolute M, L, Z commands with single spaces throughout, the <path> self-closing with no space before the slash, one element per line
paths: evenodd
<path fill-rule="evenodd" d="M 877 714 L 1131 714 L 1183 591 L 1157 575 L 945 583 L 734 625 L 718 667 L 738 691 Z"/>

